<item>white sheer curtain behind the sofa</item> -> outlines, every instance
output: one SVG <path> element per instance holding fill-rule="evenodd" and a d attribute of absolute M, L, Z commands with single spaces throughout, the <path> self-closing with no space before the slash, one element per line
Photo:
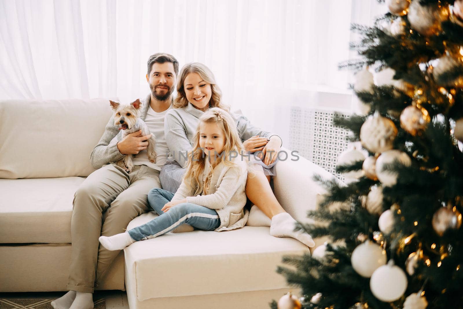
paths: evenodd
<path fill-rule="evenodd" d="M 0 99 L 133 100 L 165 51 L 208 65 L 225 103 L 285 137 L 290 106 L 350 109 L 337 65 L 371 2 L 0 0 Z"/>

